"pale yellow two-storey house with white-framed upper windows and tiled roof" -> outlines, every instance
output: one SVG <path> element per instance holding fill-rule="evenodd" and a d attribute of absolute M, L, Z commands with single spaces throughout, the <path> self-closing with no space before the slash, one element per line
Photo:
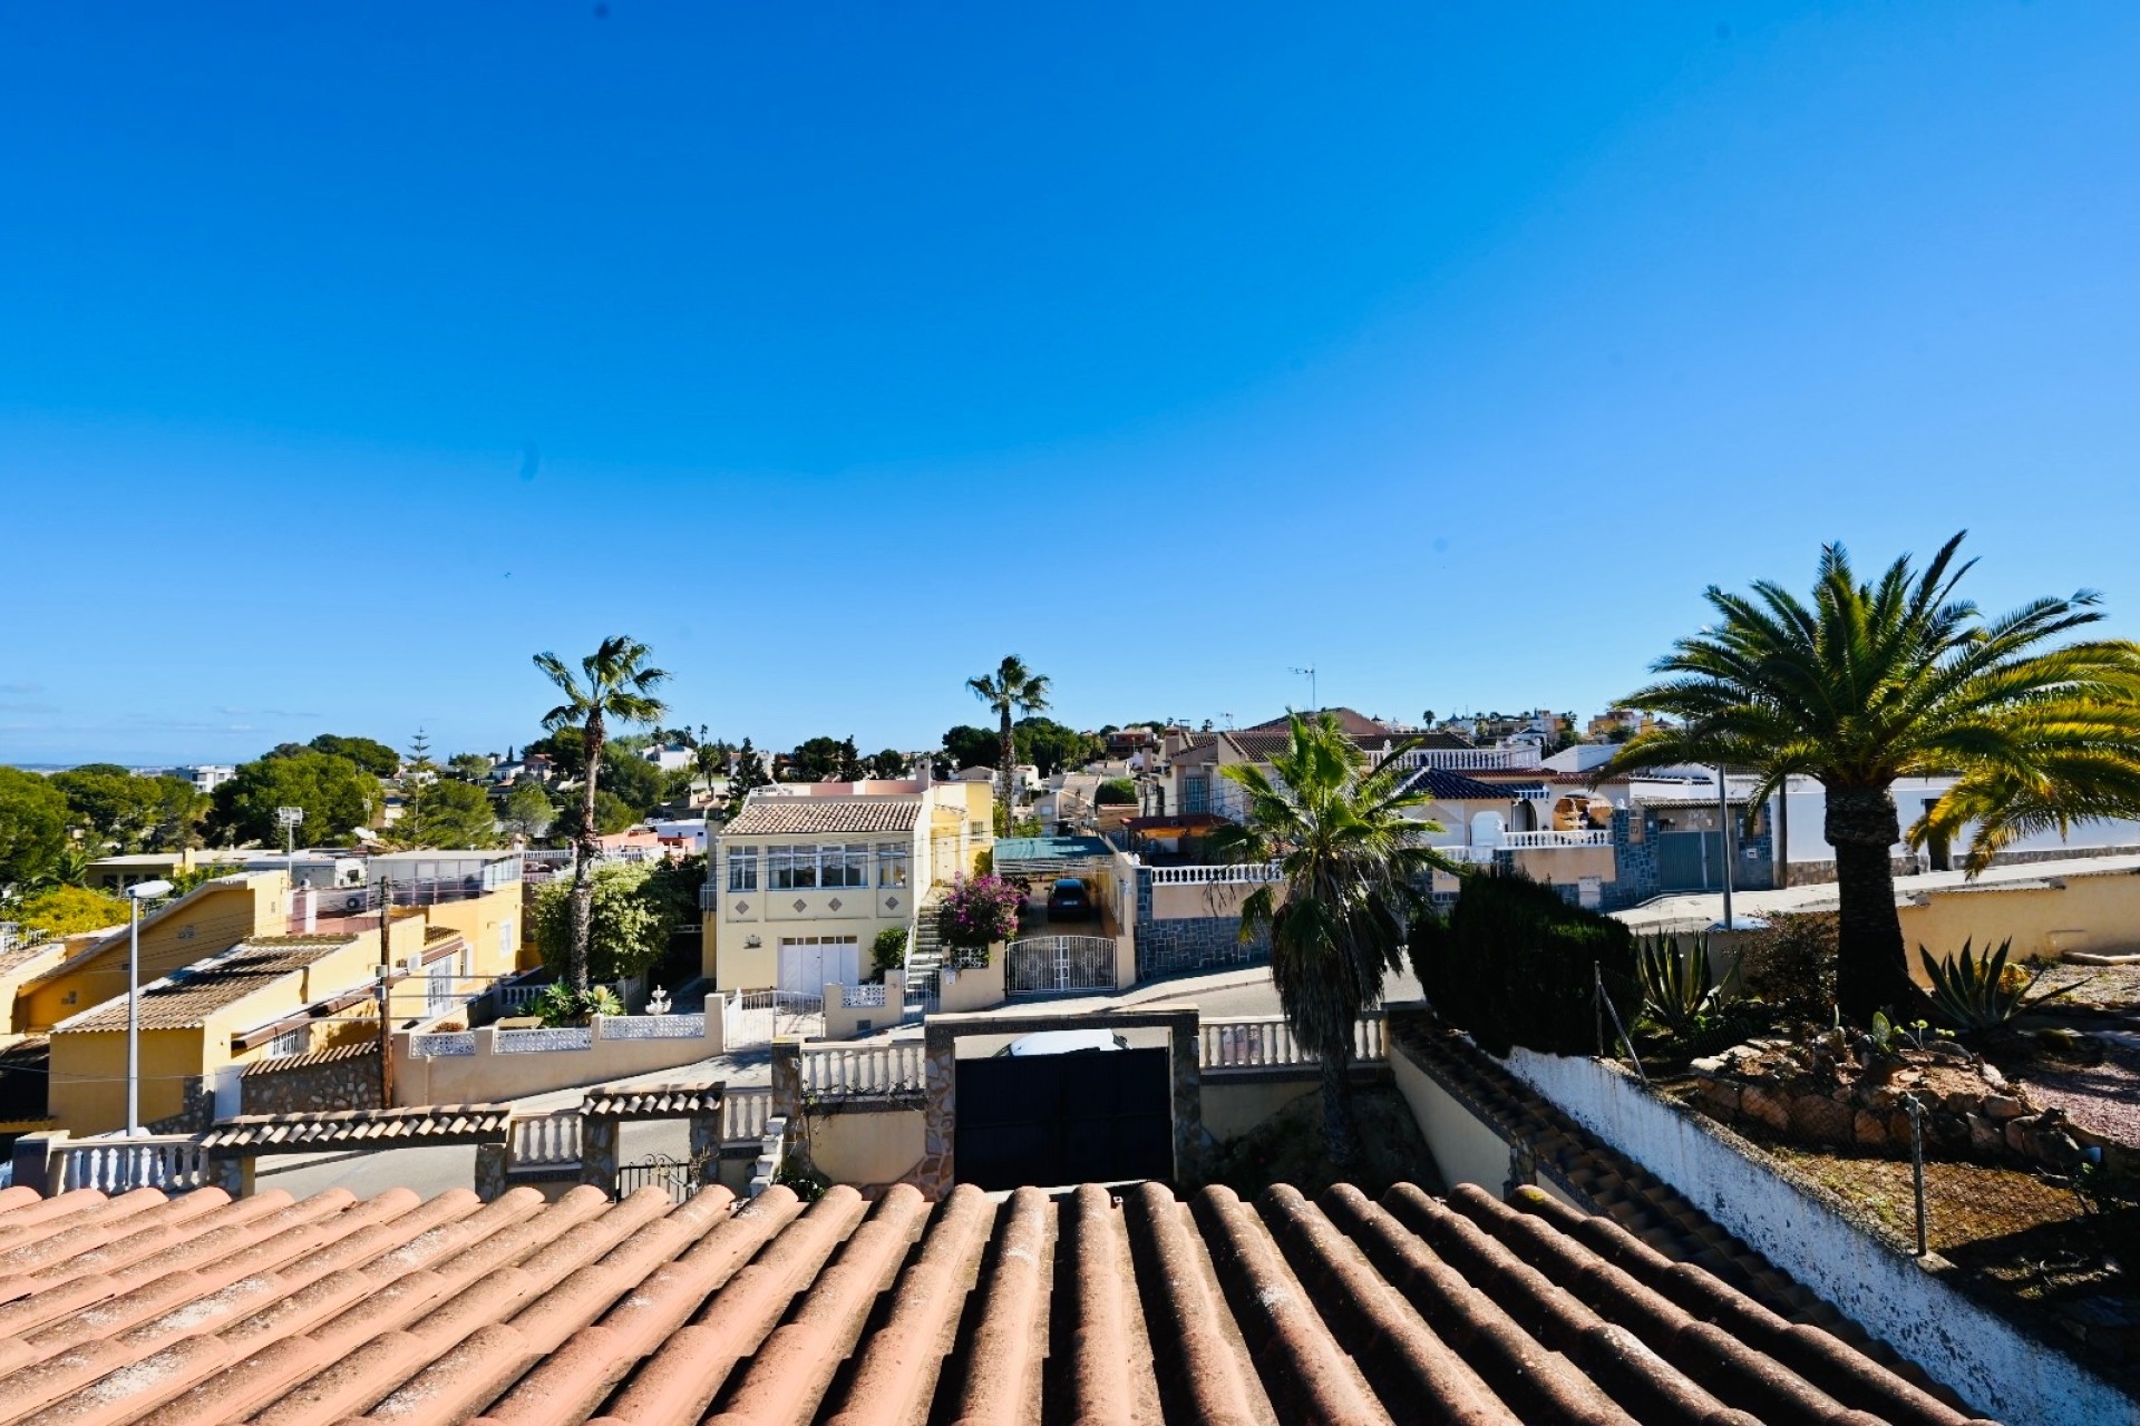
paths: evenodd
<path fill-rule="evenodd" d="M 912 928 L 931 885 L 974 872 L 993 847 L 993 808 L 982 782 L 753 793 L 706 859 L 706 977 L 717 990 L 798 994 L 856 983 L 880 930 Z"/>

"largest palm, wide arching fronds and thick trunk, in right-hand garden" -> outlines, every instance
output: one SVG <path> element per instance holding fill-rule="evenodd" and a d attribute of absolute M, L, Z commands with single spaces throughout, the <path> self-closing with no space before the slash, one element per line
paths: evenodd
<path fill-rule="evenodd" d="M 1982 618 L 1954 594 L 1973 564 L 1956 562 L 1960 543 L 1922 573 L 1902 556 L 1870 584 L 1828 545 L 1810 607 L 1768 579 L 1751 596 L 1712 586 L 1716 624 L 1652 665 L 1661 682 L 1620 699 L 1684 725 L 1631 740 L 1596 772 L 1753 768 L 1753 806 L 1793 772 L 1817 778 L 1843 902 L 1836 1003 L 1860 1022 L 1917 1001 L 1890 864 L 1902 840 L 1896 778 L 1958 776 L 1909 840 L 1975 821 L 1971 872 L 2027 832 L 2140 808 L 2140 646 L 2054 644 L 2101 618 L 2089 590 Z"/>

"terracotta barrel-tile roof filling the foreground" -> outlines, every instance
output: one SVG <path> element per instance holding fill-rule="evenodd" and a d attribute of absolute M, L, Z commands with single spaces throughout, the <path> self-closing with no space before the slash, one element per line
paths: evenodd
<path fill-rule="evenodd" d="M 0 1422 L 1911 1422 L 1524 1189 L 0 1193 Z"/>

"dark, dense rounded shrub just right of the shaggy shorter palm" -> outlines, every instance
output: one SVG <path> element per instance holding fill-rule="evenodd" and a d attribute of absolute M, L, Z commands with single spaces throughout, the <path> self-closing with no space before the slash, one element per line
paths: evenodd
<path fill-rule="evenodd" d="M 1599 975 L 1622 1022 L 1641 1007 L 1626 926 L 1522 872 L 1464 877 L 1449 919 L 1412 928 L 1412 971 L 1434 1011 L 1489 1054 L 1592 1054 Z"/>

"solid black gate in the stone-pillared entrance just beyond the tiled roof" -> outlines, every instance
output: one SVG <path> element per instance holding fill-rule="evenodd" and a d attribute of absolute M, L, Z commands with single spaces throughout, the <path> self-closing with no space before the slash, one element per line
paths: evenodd
<path fill-rule="evenodd" d="M 1175 1174 L 1166 1050 L 959 1060 L 959 1182 L 982 1189 Z"/>

